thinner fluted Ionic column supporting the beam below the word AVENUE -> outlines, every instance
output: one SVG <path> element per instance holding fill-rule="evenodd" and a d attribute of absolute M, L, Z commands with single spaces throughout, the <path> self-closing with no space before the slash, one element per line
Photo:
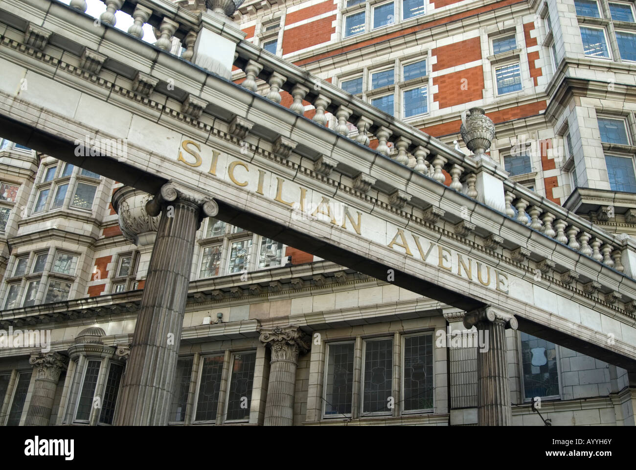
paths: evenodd
<path fill-rule="evenodd" d="M 517 329 L 513 315 L 493 307 L 472 311 L 464 317 L 466 328 L 483 331 L 487 348 L 477 352 L 478 424 L 480 426 L 512 425 L 506 329 Z"/>

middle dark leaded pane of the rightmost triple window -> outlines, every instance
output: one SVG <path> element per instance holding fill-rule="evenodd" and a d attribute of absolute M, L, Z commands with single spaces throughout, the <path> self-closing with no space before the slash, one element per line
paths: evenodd
<path fill-rule="evenodd" d="M 393 340 L 366 341 L 364 350 L 363 413 L 390 411 L 392 394 Z"/>

